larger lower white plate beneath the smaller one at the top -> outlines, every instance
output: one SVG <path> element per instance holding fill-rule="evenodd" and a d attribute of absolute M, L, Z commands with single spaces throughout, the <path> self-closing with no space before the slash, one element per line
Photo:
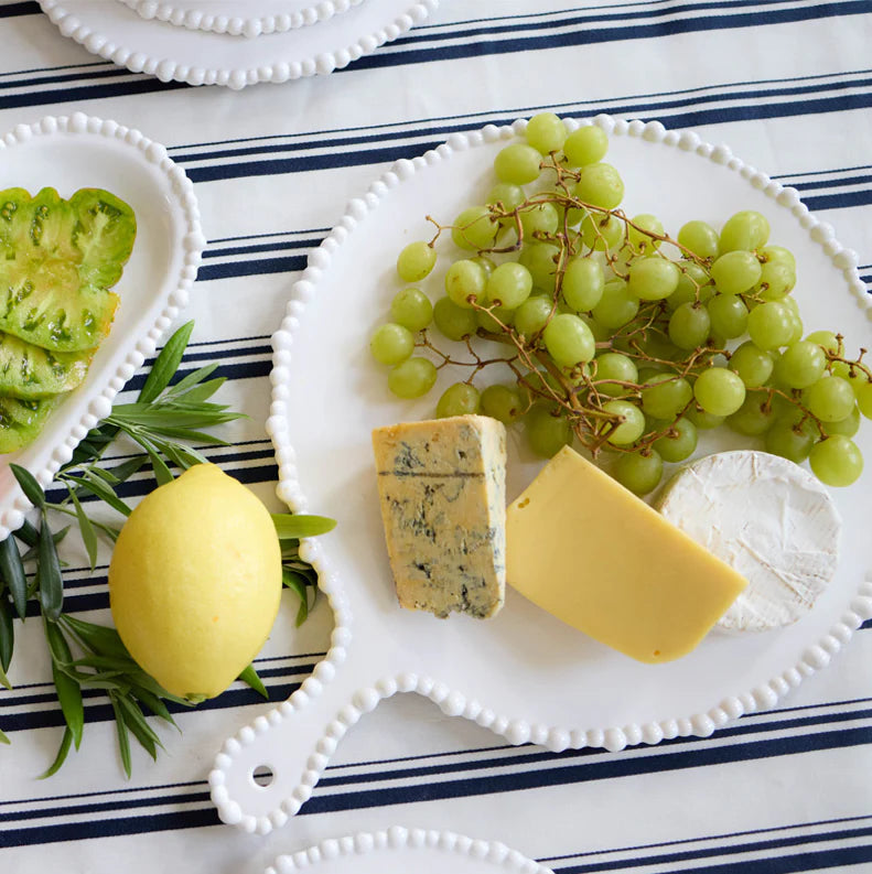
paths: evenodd
<path fill-rule="evenodd" d="M 346 67 L 396 40 L 439 0 L 366 0 L 317 26 L 240 40 L 229 33 L 173 28 L 123 3 L 39 0 L 65 36 L 93 54 L 162 82 L 244 88 Z"/>

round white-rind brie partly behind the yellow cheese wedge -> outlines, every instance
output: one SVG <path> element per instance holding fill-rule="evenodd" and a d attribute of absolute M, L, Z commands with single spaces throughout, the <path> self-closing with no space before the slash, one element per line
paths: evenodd
<path fill-rule="evenodd" d="M 718 622 L 724 630 L 795 623 L 836 574 L 836 505 L 812 474 L 777 455 L 741 450 L 689 464 L 668 485 L 659 510 L 747 580 Z"/>

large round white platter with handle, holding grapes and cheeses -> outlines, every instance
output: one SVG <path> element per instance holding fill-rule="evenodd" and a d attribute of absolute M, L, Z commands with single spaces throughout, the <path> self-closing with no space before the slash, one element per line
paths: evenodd
<path fill-rule="evenodd" d="M 772 241 L 796 253 L 808 330 L 837 327 L 848 348 L 869 346 L 870 310 L 853 252 L 785 190 L 693 133 L 658 122 L 598 118 L 612 133 L 606 160 L 626 183 L 628 215 L 655 213 L 672 234 L 690 218 L 720 227 L 739 209 L 758 209 Z M 570 122 L 574 127 L 575 122 Z M 519 122 L 516 130 L 521 130 Z M 268 429 L 279 463 L 279 494 L 295 511 L 337 519 L 335 531 L 304 544 L 319 568 L 336 628 L 332 648 L 291 699 L 243 729 L 216 759 L 213 798 L 225 821 L 268 831 L 309 798 L 345 731 L 379 700 L 417 692 L 452 715 L 550 749 L 621 749 L 678 735 L 708 735 L 742 713 L 772 706 L 822 668 L 872 616 L 872 539 L 866 473 L 833 497 L 844 520 L 837 579 L 810 614 L 787 630 L 753 636 L 712 633 L 689 656 L 642 665 L 586 638 L 508 591 L 493 619 L 446 621 L 397 604 L 379 515 L 370 430 L 430 418 L 446 370 L 427 398 L 398 401 L 374 364 L 368 337 L 387 321 L 401 288 L 397 253 L 429 239 L 426 215 L 450 224 L 482 203 L 492 162 L 512 128 L 455 134 L 413 161 L 400 161 L 360 199 L 309 258 L 287 316 L 273 337 L 273 404 Z M 443 241 L 440 240 L 440 244 Z M 446 253 L 422 285 L 435 296 L 457 251 Z M 439 271 L 442 271 L 440 273 Z M 505 378 L 494 375 L 494 379 Z M 725 431 L 725 429 L 722 429 Z M 508 499 L 540 470 L 510 432 Z M 858 438 L 872 458 L 872 427 Z M 738 435 L 701 441 L 700 455 L 742 445 Z M 579 532 L 580 537 L 583 532 Z M 616 548 L 632 549 L 633 543 Z M 274 778 L 259 787 L 260 765 Z"/>

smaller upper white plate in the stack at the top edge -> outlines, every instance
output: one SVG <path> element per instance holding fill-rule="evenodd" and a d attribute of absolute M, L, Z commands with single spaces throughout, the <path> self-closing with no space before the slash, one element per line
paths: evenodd
<path fill-rule="evenodd" d="M 329 21 L 363 0 L 118 0 L 143 19 L 232 36 L 286 33 Z"/>

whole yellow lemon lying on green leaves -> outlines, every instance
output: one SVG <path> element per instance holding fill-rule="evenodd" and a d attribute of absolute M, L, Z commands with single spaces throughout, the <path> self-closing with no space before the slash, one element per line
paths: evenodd
<path fill-rule="evenodd" d="M 213 464 L 146 497 L 109 564 L 118 634 L 169 692 L 213 698 L 250 663 L 281 597 L 281 548 L 266 507 Z"/>

